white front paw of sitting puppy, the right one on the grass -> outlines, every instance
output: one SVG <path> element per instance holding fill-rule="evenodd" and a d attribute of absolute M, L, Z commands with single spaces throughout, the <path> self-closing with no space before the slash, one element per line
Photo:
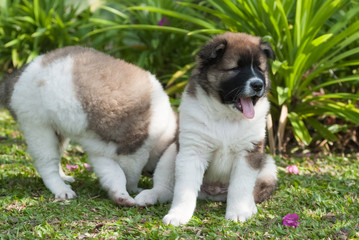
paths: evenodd
<path fill-rule="evenodd" d="M 257 213 L 255 203 L 239 204 L 236 207 L 227 207 L 226 219 L 235 222 L 244 222 Z"/>

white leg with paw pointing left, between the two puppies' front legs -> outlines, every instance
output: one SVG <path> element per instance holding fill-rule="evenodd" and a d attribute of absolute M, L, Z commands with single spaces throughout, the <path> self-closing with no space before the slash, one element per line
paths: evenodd
<path fill-rule="evenodd" d="M 176 154 L 176 144 L 173 143 L 166 149 L 157 163 L 153 176 L 153 188 L 143 190 L 135 197 L 137 205 L 148 206 L 157 201 L 165 203 L 172 199 Z"/>

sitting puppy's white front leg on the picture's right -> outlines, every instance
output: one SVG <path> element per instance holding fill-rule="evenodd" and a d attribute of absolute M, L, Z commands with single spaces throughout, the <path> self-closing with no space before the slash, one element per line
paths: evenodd
<path fill-rule="evenodd" d="M 226 219 L 244 222 L 257 213 L 253 198 L 257 175 L 258 170 L 249 166 L 245 158 L 234 163 L 228 187 Z"/>

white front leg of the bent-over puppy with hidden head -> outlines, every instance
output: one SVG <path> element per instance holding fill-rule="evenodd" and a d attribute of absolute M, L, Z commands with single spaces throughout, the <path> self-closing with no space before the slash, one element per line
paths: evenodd
<path fill-rule="evenodd" d="M 110 158 L 89 156 L 89 161 L 99 177 L 100 184 L 110 198 L 121 206 L 133 206 L 135 200 L 126 191 L 126 176 L 120 165 Z"/>

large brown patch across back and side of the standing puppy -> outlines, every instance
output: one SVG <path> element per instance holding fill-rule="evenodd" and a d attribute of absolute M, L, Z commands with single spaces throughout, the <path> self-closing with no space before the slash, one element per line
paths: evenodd
<path fill-rule="evenodd" d="M 142 146 L 151 115 L 148 72 L 83 47 L 66 47 L 48 55 L 43 60 L 47 64 L 67 55 L 73 58 L 73 82 L 90 130 L 115 142 L 118 154 L 131 154 Z"/>

